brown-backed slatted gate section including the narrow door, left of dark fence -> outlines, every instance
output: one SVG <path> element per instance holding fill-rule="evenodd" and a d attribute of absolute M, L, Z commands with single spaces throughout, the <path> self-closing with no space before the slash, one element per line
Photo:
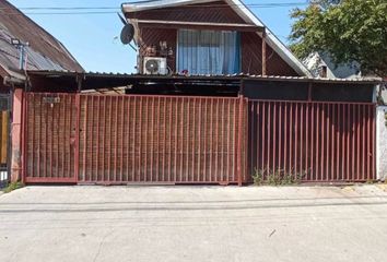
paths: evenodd
<path fill-rule="evenodd" d="M 26 93 L 25 181 L 247 181 L 244 98 Z"/>

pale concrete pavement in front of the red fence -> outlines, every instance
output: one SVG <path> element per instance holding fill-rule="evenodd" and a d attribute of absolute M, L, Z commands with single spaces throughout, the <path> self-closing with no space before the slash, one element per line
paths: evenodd
<path fill-rule="evenodd" d="M 386 261 L 387 192 L 27 187 L 0 196 L 0 261 Z"/>

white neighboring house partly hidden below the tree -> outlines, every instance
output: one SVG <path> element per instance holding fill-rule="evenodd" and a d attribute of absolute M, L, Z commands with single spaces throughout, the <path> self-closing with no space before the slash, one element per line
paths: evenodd
<path fill-rule="evenodd" d="M 315 78 L 359 79 L 363 76 L 359 63 L 336 66 L 327 53 L 310 53 L 303 63 Z"/>

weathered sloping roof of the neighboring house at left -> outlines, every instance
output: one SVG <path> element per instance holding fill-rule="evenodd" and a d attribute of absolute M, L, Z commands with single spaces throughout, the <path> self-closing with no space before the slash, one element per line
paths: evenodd
<path fill-rule="evenodd" d="M 20 53 L 11 45 L 17 38 L 30 44 L 27 70 L 84 71 L 60 41 L 8 1 L 0 1 L 0 66 L 5 70 L 19 69 Z"/>

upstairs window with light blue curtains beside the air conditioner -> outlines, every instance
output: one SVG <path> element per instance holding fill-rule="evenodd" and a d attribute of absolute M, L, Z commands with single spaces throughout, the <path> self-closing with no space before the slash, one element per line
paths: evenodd
<path fill-rule="evenodd" d="M 241 37 L 237 32 L 178 32 L 179 72 L 189 74 L 233 74 L 241 72 Z"/>

